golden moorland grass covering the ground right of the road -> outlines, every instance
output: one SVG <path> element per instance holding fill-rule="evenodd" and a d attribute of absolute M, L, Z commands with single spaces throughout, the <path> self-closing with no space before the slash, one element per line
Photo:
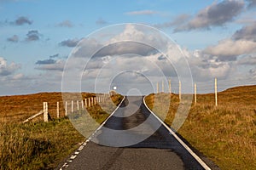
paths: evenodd
<path fill-rule="evenodd" d="M 170 94 L 158 94 L 167 99 Z M 147 104 L 158 115 L 163 115 L 154 104 L 154 94 Z M 172 94 L 170 109 L 165 118 L 172 125 L 179 105 Z M 178 130 L 197 150 L 216 162 L 221 169 L 256 169 L 256 86 L 230 88 L 218 93 L 215 107 L 214 94 L 197 95 L 189 116 Z"/>

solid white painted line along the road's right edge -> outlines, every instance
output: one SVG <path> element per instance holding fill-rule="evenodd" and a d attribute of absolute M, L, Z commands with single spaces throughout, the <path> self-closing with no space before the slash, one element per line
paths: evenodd
<path fill-rule="evenodd" d="M 157 118 L 157 119 L 161 122 L 161 124 L 164 125 L 164 127 L 166 127 L 166 129 L 172 134 L 172 136 L 173 136 L 175 139 L 177 139 L 177 141 L 178 141 L 180 144 L 183 145 L 183 147 L 189 152 L 189 154 L 190 154 L 191 156 L 193 156 L 193 157 L 195 158 L 195 160 L 198 161 L 198 162 L 201 164 L 202 167 L 204 167 L 204 168 L 207 169 L 207 170 L 212 170 L 211 167 L 209 167 L 205 161 L 202 161 L 201 158 L 200 158 L 199 156 L 197 156 L 197 155 L 195 154 L 195 152 L 194 152 L 193 150 L 191 150 L 191 149 L 189 148 L 189 146 L 188 146 L 187 144 L 185 144 L 185 143 L 183 142 L 183 140 L 180 139 L 180 138 L 177 136 L 177 134 L 174 133 L 173 130 L 172 130 L 170 127 L 168 127 L 168 126 L 166 125 L 165 122 L 163 122 L 158 116 L 156 116 L 156 115 L 154 114 L 153 111 L 151 111 L 151 110 L 148 108 L 148 105 L 146 105 L 146 102 L 145 102 L 145 96 L 143 97 L 143 104 L 146 106 L 146 108 L 148 109 L 148 111 L 150 111 L 150 113 L 151 113 L 153 116 L 155 116 L 155 118 Z"/>

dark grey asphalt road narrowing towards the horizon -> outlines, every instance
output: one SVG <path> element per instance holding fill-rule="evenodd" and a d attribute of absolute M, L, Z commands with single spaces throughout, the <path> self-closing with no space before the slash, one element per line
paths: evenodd
<path fill-rule="evenodd" d="M 85 144 L 67 169 L 205 169 L 148 111 L 141 96 L 126 97 Z"/>

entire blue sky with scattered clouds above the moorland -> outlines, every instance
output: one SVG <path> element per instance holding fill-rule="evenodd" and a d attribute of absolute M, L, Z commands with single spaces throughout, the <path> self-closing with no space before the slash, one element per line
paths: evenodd
<path fill-rule="evenodd" d="M 0 0 L 0 95 L 113 86 L 149 94 L 162 81 L 167 91 L 170 79 L 177 93 L 183 72 L 192 77 L 183 87 L 197 83 L 199 93 L 212 93 L 215 77 L 218 91 L 256 84 L 255 52 L 255 0 Z M 70 67 L 81 67 L 80 82 Z"/>

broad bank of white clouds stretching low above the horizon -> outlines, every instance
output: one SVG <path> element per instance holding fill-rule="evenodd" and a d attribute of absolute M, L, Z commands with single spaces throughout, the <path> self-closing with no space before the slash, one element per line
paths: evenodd
<path fill-rule="evenodd" d="M 106 34 L 101 34 L 99 37 L 84 39 L 79 43 L 79 47 L 73 50 L 74 57 L 69 60 L 69 65 L 66 65 L 67 71 L 73 73 L 73 70 L 84 66 L 84 61 L 88 61 L 87 67 L 82 72 L 84 73 L 82 90 L 94 91 L 94 83 L 96 83 L 95 80 L 97 79 L 102 82 L 101 90 L 104 91 L 103 89 L 106 89 L 108 91 L 111 81 L 121 73 L 120 71 L 136 72 L 136 74 L 134 72 L 132 74 L 130 72 L 129 74 L 124 73 L 122 77 L 116 79 L 124 80 L 124 82 L 134 82 L 133 84 L 131 83 L 132 85 L 135 82 L 144 85 L 144 76 L 150 77 L 149 79 L 155 85 L 155 82 L 160 82 L 165 77 L 176 78 L 176 71 L 178 69 L 179 71 L 183 71 L 186 60 L 181 57 L 180 47 L 168 42 L 168 39 L 161 38 L 159 34 L 148 34 L 142 27 L 133 25 L 124 26 L 123 30 L 119 31 L 119 33 L 113 32 L 111 32 L 112 34 L 107 34 L 109 33 L 107 32 Z M 112 37 L 108 39 L 108 35 Z M 104 42 L 106 39 L 108 41 Z M 131 42 L 131 40 L 135 40 L 136 42 Z M 149 43 L 151 45 L 153 44 L 153 48 L 145 45 Z M 103 44 L 110 45 L 102 48 Z M 172 59 L 172 63 L 154 48 L 159 48 L 160 51 L 166 48 L 166 51 L 161 52 L 168 54 Z M 90 54 L 95 54 L 99 49 L 102 50 L 98 51 L 94 58 L 89 60 Z M 249 70 L 247 69 L 248 75 L 255 75 L 255 69 L 252 67 L 255 55 L 251 55 L 255 49 L 256 42 L 252 40 L 230 37 L 204 50 L 189 51 L 184 48 L 182 50 L 186 55 L 186 59 L 189 61 L 194 81 L 207 82 L 212 81 L 214 77 L 227 80 L 232 77 L 239 78 L 241 77 L 239 74 L 241 65 L 249 65 L 251 73 L 249 74 Z M 240 56 L 237 58 L 239 55 L 244 55 L 244 57 L 241 58 Z M 239 60 L 236 61 L 236 58 Z M 4 80 L 2 77 L 0 81 L 4 82 L 6 87 L 10 84 L 12 87 L 24 88 L 27 91 L 29 91 L 28 87 L 32 91 L 37 91 L 37 89 L 41 91 L 60 91 L 61 71 L 64 65 L 65 61 L 58 59 L 58 55 L 56 54 L 49 57 L 49 59 L 38 60 L 36 69 L 42 71 L 40 75 L 26 77 L 21 73 L 15 74 L 15 71 L 19 69 L 19 65 L 15 63 L 8 65 L 5 59 L 0 58 L 0 75 L 5 75 Z M 77 73 L 76 71 L 74 72 Z M 68 81 L 72 81 L 73 77 L 80 78 L 81 76 L 79 74 L 70 75 L 72 77 L 67 79 Z M 127 84 L 126 88 L 129 88 Z M 146 92 L 146 88 L 143 90 Z"/>

